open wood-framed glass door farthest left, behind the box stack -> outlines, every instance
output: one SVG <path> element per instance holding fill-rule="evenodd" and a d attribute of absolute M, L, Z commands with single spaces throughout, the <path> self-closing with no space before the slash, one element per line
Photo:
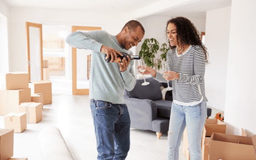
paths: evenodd
<path fill-rule="evenodd" d="M 43 80 L 42 24 L 26 22 L 29 81 Z"/>

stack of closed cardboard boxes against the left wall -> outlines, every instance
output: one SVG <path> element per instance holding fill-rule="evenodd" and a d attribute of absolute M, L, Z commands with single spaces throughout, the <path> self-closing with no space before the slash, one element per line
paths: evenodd
<path fill-rule="evenodd" d="M 29 74 L 22 72 L 1 73 L 0 80 L 0 115 L 6 115 L 6 129 L 21 133 L 26 129 L 26 123 L 42 120 L 43 104 L 52 103 L 51 82 L 29 82 Z M 32 84 L 32 90 L 29 84 Z"/>

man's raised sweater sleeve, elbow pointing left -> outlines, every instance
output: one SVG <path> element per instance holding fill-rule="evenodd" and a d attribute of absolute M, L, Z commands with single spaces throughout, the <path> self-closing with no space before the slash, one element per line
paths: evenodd
<path fill-rule="evenodd" d="M 71 47 L 79 49 L 90 49 L 96 52 L 100 52 L 102 44 L 98 42 L 99 33 L 102 31 L 90 31 L 90 32 L 73 32 L 67 36 L 66 42 Z"/>

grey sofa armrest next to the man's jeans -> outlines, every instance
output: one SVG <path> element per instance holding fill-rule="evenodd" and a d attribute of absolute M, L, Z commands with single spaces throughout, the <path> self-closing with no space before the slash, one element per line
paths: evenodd
<path fill-rule="evenodd" d="M 157 119 L 157 106 L 149 99 L 125 97 L 131 119 L 131 127 L 152 130 L 152 121 Z"/>

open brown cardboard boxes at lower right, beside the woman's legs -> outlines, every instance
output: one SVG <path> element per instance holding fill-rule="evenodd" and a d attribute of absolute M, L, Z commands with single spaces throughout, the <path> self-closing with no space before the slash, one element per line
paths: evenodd
<path fill-rule="evenodd" d="M 256 135 L 229 135 L 226 124 L 206 119 L 202 134 L 202 160 L 256 160 Z M 245 133 L 245 132 L 243 132 Z M 183 154 L 189 160 L 187 131 L 183 133 Z"/>

